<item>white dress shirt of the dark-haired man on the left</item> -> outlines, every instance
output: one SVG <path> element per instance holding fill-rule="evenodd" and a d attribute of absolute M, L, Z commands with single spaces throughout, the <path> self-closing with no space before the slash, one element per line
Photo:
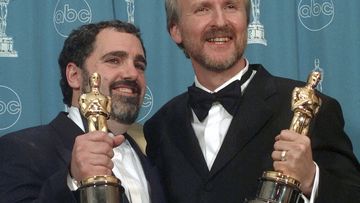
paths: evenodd
<path fill-rule="evenodd" d="M 80 116 L 79 109 L 76 107 L 68 108 L 68 117 L 76 123 L 84 132 L 84 125 Z M 113 136 L 110 134 L 110 136 Z M 121 185 L 125 189 L 125 195 L 130 203 L 150 203 L 148 182 L 144 170 L 134 149 L 129 141 L 125 140 L 121 145 L 114 148 L 114 175 L 121 180 Z M 68 175 L 67 184 L 70 190 L 78 189 L 76 182 Z"/>

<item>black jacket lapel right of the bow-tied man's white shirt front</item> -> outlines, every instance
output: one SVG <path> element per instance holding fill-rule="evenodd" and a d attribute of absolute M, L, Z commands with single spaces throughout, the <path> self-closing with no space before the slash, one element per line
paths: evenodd
<path fill-rule="evenodd" d="M 239 108 L 211 168 L 210 176 L 216 174 L 239 153 L 273 114 L 271 105 L 266 101 L 276 92 L 271 75 L 261 66 L 252 68 L 257 73 L 241 98 Z"/>

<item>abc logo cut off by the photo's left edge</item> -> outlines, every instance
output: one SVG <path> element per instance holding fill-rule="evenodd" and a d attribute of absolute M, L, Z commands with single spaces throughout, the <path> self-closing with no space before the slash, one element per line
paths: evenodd
<path fill-rule="evenodd" d="M 19 120 L 21 102 L 18 94 L 9 87 L 0 85 L 0 130 L 6 130 Z"/>

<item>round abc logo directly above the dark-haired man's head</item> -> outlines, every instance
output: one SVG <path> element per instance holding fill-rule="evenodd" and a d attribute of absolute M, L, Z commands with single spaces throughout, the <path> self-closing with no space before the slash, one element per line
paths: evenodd
<path fill-rule="evenodd" d="M 59 0 L 53 21 L 57 33 L 67 37 L 72 29 L 90 23 L 91 18 L 91 9 L 85 0 Z"/>

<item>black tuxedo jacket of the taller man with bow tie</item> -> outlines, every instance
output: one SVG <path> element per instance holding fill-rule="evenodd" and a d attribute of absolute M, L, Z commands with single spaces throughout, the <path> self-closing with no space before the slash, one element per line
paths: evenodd
<path fill-rule="evenodd" d="M 223 144 L 209 171 L 191 126 L 189 95 L 165 104 L 144 125 L 148 157 L 160 169 L 171 203 L 241 203 L 256 196 L 258 179 L 273 170 L 275 136 L 293 117 L 291 95 L 305 83 L 270 75 L 261 65 L 243 92 Z M 340 105 L 323 101 L 309 135 L 320 168 L 316 202 L 360 202 L 360 166 L 343 131 Z"/>

